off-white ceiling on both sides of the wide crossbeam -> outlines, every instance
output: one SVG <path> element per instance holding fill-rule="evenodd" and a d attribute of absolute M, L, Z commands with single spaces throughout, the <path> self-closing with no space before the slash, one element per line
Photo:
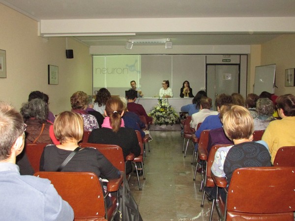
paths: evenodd
<path fill-rule="evenodd" d="M 0 3 L 38 22 L 56 19 L 295 17 L 295 0 L 0 0 Z M 262 44 L 282 33 L 135 34 L 75 38 L 89 46 L 125 45 L 129 38 L 170 38 L 173 45 L 251 45 Z"/>

